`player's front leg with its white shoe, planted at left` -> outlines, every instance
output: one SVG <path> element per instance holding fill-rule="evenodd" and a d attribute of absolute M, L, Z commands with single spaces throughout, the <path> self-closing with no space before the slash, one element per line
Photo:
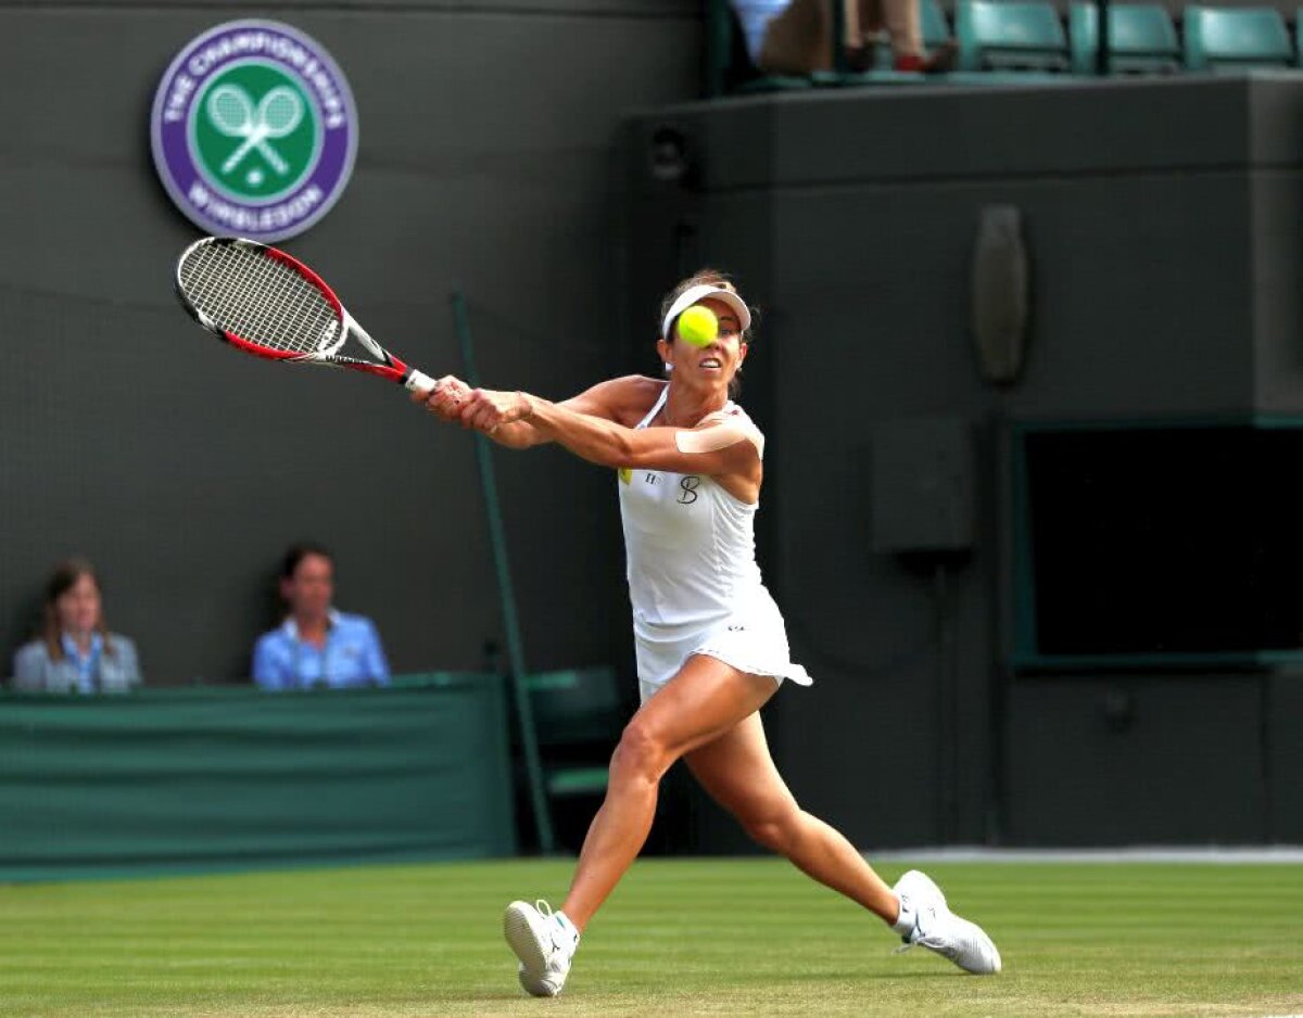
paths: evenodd
<path fill-rule="evenodd" d="M 697 655 L 633 715 L 611 758 L 606 799 L 584 838 L 562 910 L 552 913 L 543 902 L 507 906 L 503 931 L 526 992 L 550 997 L 562 991 L 580 932 L 646 841 L 670 765 L 758 711 L 774 689 L 771 678 Z"/>

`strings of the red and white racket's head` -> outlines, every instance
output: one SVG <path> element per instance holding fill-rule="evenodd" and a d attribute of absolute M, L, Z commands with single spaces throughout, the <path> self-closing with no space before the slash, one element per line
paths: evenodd
<path fill-rule="evenodd" d="M 339 315 L 321 290 L 258 250 L 201 245 L 181 264 L 180 279 L 201 315 L 259 346 L 310 354 L 343 341 Z"/>

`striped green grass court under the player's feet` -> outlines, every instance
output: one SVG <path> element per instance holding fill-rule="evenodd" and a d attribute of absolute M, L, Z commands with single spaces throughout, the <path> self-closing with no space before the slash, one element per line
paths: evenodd
<path fill-rule="evenodd" d="M 904 866 L 883 866 L 894 880 Z M 967 976 L 777 860 L 640 862 L 559 1000 L 499 931 L 567 862 L 0 887 L 3 1015 L 1267 1015 L 1303 1011 L 1303 867 L 937 864 Z"/>

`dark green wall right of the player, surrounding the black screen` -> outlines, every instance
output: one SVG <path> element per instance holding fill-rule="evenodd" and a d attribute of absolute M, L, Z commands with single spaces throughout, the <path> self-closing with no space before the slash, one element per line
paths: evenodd
<path fill-rule="evenodd" d="M 696 168 L 678 184 L 646 171 L 666 125 Z M 1263 762 L 1280 741 L 1265 739 L 1264 678 L 1141 685 L 1151 728 L 1110 738 L 1100 703 L 1154 677 L 1011 672 L 1009 453 L 1019 420 L 1303 413 L 1303 85 L 760 96 L 632 118 L 625 151 L 631 305 L 687 260 L 736 271 L 764 311 L 747 391 L 769 436 L 762 565 L 816 678 L 769 715 L 807 808 L 865 846 L 1260 841 L 1296 827 L 1283 782 L 1269 823 Z M 1007 388 L 982 383 L 969 325 L 992 204 L 1022 211 L 1031 267 L 1025 370 Z M 873 549 L 873 441 L 955 418 L 972 436 L 977 536 L 938 573 Z M 1234 760 L 1217 794 L 1235 811 L 1156 784 L 1106 794 L 1109 747 L 1181 773 L 1192 755 L 1214 765 L 1213 732 Z M 1067 807 L 1037 805 L 1078 778 L 1100 794 L 1074 825 Z"/>

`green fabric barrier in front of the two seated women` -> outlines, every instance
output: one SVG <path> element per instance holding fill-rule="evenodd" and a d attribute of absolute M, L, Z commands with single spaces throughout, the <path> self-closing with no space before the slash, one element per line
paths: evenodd
<path fill-rule="evenodd" d="M 0 880 L 509 855 L 502 680 L 0 698 Z"/>

